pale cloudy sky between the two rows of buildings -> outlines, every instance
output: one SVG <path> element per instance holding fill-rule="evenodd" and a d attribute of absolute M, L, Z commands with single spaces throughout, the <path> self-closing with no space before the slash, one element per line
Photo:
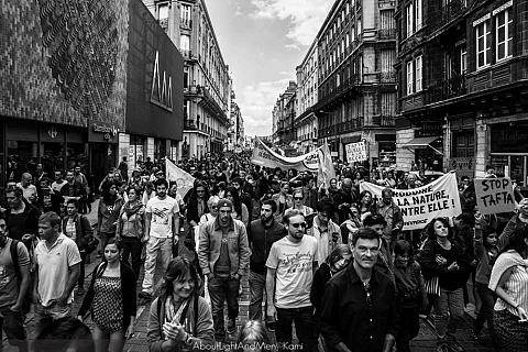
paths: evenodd
<path fill-rule="evenodd" d="M 272 109 L 333 0 L 206 0 L 246 135 L 272 133 Z"/>

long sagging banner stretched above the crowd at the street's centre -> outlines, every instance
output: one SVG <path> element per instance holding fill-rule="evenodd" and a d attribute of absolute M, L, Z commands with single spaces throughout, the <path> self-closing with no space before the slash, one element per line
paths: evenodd
<path fill-rule="evenodd" d="M 267 145 L 265 145 L 258 138 L 256 139 L 257 143 L 253 150 L 253 156 L 251 162 L 255 165 L 261 165 L 264 167 L 279 167 L 279 168 L 295 168 L 299 172 L 317 172 L 319 160 L 317 153 L 319 148 L 305 155 L 287 157 L 278 155 L 272 151 Z"/>

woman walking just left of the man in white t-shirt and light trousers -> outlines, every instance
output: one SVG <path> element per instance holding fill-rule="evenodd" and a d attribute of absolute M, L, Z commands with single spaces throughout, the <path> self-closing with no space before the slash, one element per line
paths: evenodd
<path fill-rule="evenodd" d="M 129 263 L 132 260 L 132 270 L 135 277 L 140 277 L 141 252 L 143 250 L 143 237 L 145 235 L 145 206 L 140 201 L 140 189 L 129 186 L 127 194 L 129 201 L 121 208 L 118 218 L 116 238 L 121 241 L 123 248 L 122 261 Z"/>

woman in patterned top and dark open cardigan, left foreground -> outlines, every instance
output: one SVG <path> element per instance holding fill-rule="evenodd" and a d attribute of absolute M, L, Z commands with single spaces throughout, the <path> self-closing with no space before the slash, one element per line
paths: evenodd
<path fill-rule="evenodd" d="M 88 310 L 96 323 L 96 352 L 122 352 L 124 340 L 134 331 L 136 311 L 135 275 L 120 262 L 121 245 L 110 239 L 105 245 L 105 261 L 97 265 L 77 318 Z"/>

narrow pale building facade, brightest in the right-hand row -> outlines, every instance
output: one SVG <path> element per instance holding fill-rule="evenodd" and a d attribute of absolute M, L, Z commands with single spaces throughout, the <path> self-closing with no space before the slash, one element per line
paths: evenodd
<path fill-rule="evenodd" d="M 317 114 L 312 107 L 317 103 L 318 89 L 318 45 L 315 41 L 302 63 L 297 66 L 297 111 L 295 116 L 296 140 L 301 153 L 317 147 Z"/>

